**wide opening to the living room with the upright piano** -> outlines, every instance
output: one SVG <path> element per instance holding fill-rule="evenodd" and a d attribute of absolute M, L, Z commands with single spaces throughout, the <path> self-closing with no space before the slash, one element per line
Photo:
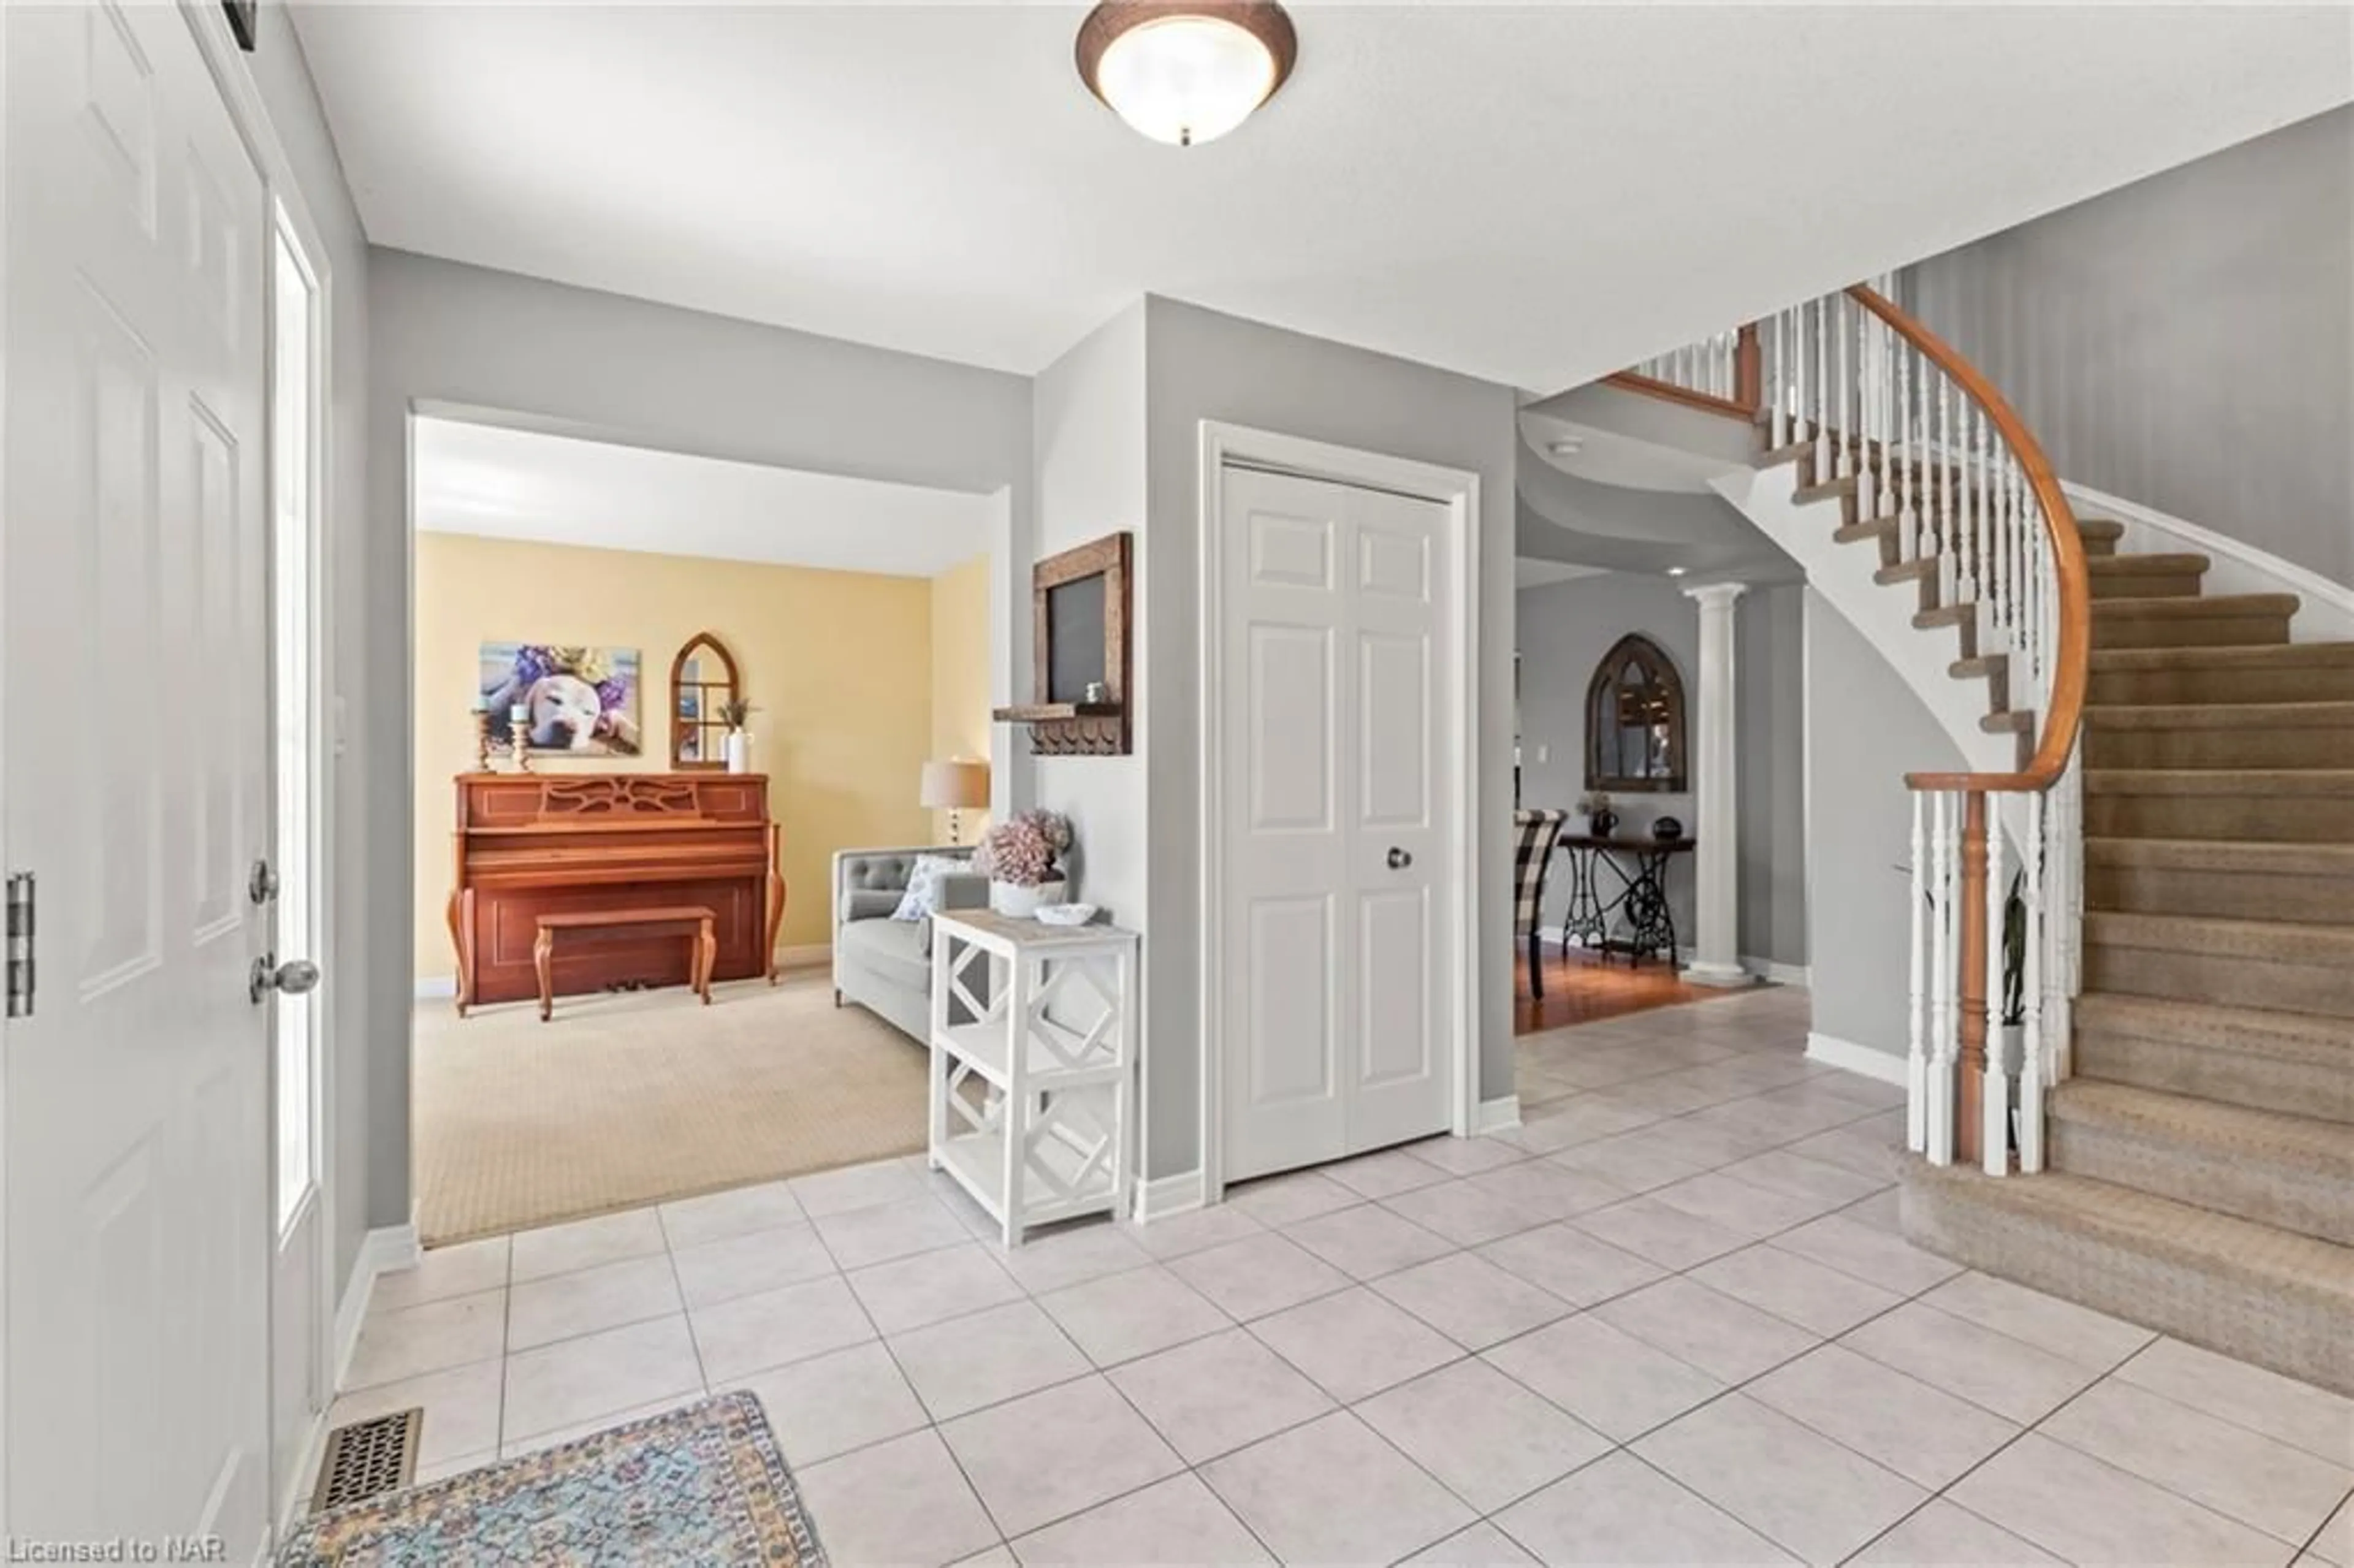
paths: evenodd
<path fill-rule="evenodd" d="M 443 417 L 412 473 L 419 1238 L 920 1151 L 1003 497 Z"/>

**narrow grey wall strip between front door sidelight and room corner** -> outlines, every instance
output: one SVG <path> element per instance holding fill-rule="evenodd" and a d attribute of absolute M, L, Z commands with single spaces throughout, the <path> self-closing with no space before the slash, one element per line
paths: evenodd
<path fill-rule="evenodd" d="M 247 57 L 271 129 L 285 148 L 318 240 L 325 247 L 313 261 L 327 268 L 327 311 L 332 363 L 327 367 L 327 671 L 346 713 L 360 713 L 353 699 L 360 685 L 363 572 L 353 563 L 367 553 L 367 235 L 351 205 L 351 188 L 337 160 L 327 118 L 320 111 L 311 71 L 294 38 L 287 7 L 261 7 L 259 47 Z M 330 911 L 330 946 L 320 956 L 327 1008 L 327 1076 L 334 1099 L 327 1104 L 325 1154 L 332 1161 L 327 1189 L 330 1257 L 334 1281 L 351 1278 L 353 1257 L 367 1231 L 367 779 L 370 744 L 395 735 L 398 725 L 372 730 L 346 723 L 344 751 L 330 768 L 330 812 L 334 843 L 330 866 L 334 909 Z M 391 763 L 388 763 L 391 765 Z"/>

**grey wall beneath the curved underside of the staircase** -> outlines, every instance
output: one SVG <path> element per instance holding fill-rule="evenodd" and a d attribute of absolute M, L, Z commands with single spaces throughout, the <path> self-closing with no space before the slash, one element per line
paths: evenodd
<path fill-rule="evenodd" d="M 1907 772 L 1963 772 L 1961 749 L 1831 605 L 1806 593 L 1808 888 L 1815 1034 L 1904 1055 L 1911 961 Z"/>

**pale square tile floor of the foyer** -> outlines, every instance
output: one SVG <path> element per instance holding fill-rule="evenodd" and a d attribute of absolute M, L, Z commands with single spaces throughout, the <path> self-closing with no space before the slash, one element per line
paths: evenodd
<path fill-rule="evenodd" d="M 1895 1234 L 1806 998 L 1530 1036 L 1525 1125 L 1005 1255 L 890 1161 L 431 1253 L 424 1476 L 749 1387 L 869 1563 L 2354 1568 L 2354 1401 Z"/>

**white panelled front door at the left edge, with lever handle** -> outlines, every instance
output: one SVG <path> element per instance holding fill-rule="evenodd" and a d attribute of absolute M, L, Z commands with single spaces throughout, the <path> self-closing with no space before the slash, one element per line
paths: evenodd
<path fill-rule="evenodd" d="M 268 1519 L 264 186 L 177 5 L 0 7 L 7 1533 Z"/>

